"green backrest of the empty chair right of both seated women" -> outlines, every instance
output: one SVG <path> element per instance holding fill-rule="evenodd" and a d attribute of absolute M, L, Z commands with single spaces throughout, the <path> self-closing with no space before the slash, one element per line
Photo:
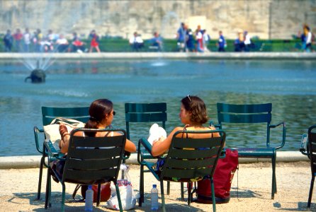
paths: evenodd
<path fill-rule="evenodd" d="M 218 103 L 218 124 L 223 123 L 255 124 L 266 123 L 266 146 L 270 145 L 270 124 L 272 104 L 232 105 Z"/>

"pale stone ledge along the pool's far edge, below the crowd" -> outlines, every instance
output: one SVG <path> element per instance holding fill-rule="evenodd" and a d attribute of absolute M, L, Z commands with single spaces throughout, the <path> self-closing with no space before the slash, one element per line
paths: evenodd
<path fill-rule="evenodd" d="M 0 60 L 16 59 L 316 59 L 316 52 L 101 52 L 0 53 Z"/>

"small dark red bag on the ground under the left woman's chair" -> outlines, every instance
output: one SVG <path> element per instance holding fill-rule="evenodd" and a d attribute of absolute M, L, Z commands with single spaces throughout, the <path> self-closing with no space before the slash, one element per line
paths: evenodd
<path fill-rule="evenodd" d="M 107 182 L 106 184 L 101 184 L 101 198 L 100 201 L 108 201 L 111 196 L 111 183 Z M 82 199 L 76 199 L 76 194 L 78 190 L 81 188 L 81 196 Z M 74 193 L 72 194 L 72 199 L 74 201 L 84 201 L 86 199 L 86 190 L 88 189 L 88 185 L 85 184 L 77 184 L 77 186 L 74 188 Z M 92 191 L 94 191 L 94 203 L 96 203 L 96 200 L 98 199 L 98 185 L 94 184 L 92 185 Z"/>

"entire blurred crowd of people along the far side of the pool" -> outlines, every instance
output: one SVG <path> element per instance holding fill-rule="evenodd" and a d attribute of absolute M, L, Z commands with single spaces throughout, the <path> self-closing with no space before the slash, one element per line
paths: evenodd
<path fill-rule="evenodd" d="M 302 41 L 302 49 L 305 52 L 314 51 L 312 43 L 315 42 L 315 35 L 308 25 L 303 25 L 303 33 L 299 32 L 297 38 Z M 88 43 L 81 40 L 75 32 L 72 33 L 72 39 L 69 41 L 64 35 L 53 33 L 52 30 L 48 30 L 47 35 L 43 35 L 40 29 L 31 34 L 28 28 L 24 33 L 19 28 L 15 33 L 7 30 L 3 37 L 5 52 L 101 52 L 99 40 L 96 30 L 91 30 Z M 221 30 L 215 43 L 218 52 L 226 51 L 227 42 Z M 181 23 L 176 31 L 176 44 L 179 52 L 210 52 L 210 35 L 201 28 L 201 25 L 198 25 L 196 30 L 191 30 L 188 25 Z M 148 40 L 148 49 L 145 49 L 145 42 L 137 32 L 130 37 L 129 45 L 134 52 L 147 52 L 147 50 L 161 52 L 164 48 L 163 38 L 158 32 L 154 32 L 152 38 Z M 255 47 L 249 33 L 242 30 L 238 31 L 233 45 L 235 52 L 249 52 Z"/>

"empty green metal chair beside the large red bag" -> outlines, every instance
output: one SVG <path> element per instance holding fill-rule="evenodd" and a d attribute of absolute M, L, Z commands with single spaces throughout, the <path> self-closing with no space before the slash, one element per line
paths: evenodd
<path fill-rule="evenodd" d="M 274 194 L 276 194 L 276 150 L 282 148 L 286 143 L 286 123 L 281 122 L 279 124 L 271 124 L 271 111 L 272 104 L 257 104 L 257 105 L 231 105 L 225 103 L 218 103 L 218 123 L 215 126 L 218 126 L 220 129 L 224 126 L 224 124 L 235 124 L 241 125 L 246 124 L 265 124 L 266 125 L 266 141 L 264 142 L 265 148 L 258 148 L 258 146 L 249 146 L 247 148 L 237 148 L 238 157 L 240 158 L 271 158 L 272 162 L 272 191 L 271 191 L 271 199 L 274 199 Z M 270 129 L 276 128 L 276 126 L 283 126 L 282 131 L 282 141 L 278 143 L 276 146 L 272 146 L 270 143 Z M 228 128 L 225 131 L 229 132 Z M 242 131 L 240 131 L 242 134 Z M 242 136 L 240 136 L 242 138 Z M 239 139 L 240 141 L 241 139 Z M 229 141 L 228 141 L 229 142 Z M 247 144 L 248 141 L 244 141 L 244 144 Z M 262 141 L 258 141 L 261 145 Z M 248 145 L 248 144 L 247 144 Z"/>

